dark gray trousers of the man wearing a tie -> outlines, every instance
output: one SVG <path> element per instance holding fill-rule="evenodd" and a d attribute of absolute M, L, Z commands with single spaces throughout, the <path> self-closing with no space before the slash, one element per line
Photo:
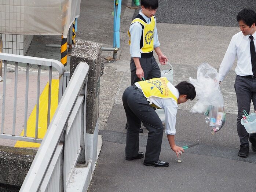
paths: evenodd
<path fill-rule="evenodd" d="M 246 78 L 237 75 L 235 78 L 235 93 L 237 94 L 237 133 L 240 138 L 240 147 L 242 145 L 249 145 L 249 134 L 246 132 L 246 129 L 241 124 L 242 115 L 244 110 L 246 112 L 250 111 L 250 102 L 252 101 L 254 111 L 256 110 L 256 79 Z M 256 141 L 256 133 L 250 134 L 250 137 Z"/>

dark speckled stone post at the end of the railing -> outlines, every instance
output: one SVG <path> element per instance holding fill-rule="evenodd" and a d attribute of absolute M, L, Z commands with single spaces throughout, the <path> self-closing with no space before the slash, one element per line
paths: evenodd
<path fill-rule="evenodd" d="M 70 78 L 80 62 L 86 62 L 90 67 L 88 74 L 85 121 L 87 133 L 93 134 L 99 118 L 101 44 L 76 39 L 76 46 L 74 47 L 70 59 Z"/>

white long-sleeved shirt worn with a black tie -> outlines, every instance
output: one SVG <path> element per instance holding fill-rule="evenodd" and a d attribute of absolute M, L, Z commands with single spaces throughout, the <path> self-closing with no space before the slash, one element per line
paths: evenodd
<path fill-rule="evenodd" d="M 228 45 L 225 56 L 220 64 L 219 81 L 223 81 L 228 71 L 233 66 L 237 58 L 237 67 L 235 73 L 240 76 L 253 75 L 252 61 L 250 59 L 250 35 L 244 36 L 242 32 L 235 34 Z M 256 33 L 253 33 L 253 40 L 256 39 Z M 254 43 L 255 46 L 256 42 Z"/>

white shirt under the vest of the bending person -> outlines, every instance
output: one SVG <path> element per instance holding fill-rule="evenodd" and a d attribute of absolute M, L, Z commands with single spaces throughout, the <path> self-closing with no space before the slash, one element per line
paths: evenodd
<path fill-rule="evenodd" d="M 138 82 L 135 83 L 135 85 L 140 88 L 140 85 Z M 170 91 L 177 97 L 179 98 L 179 91 L 178 89 L 175 88 L 174 85 L 172 85 L 170 82 L 167 84 L 168 88 Z M 141 89 L 141 88 L 140 88 Z M 147 100 L 151 103 L 154 103 L 156 106 L 164 109 L 164 115 L 165 115 L 165 133 L 167 135 L 175 135 L 176 134 L 176 129 L 175 129 L 175 124 L 176 124 L 176 114 L 178 111 L 178 104 L 176 101 L 172 98 L 159 98 L 159 97 L 150 97 L 147 98 Z"/>

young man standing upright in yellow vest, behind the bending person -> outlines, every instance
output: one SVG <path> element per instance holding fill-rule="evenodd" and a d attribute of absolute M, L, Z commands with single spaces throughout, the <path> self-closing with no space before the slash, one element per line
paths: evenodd
<path fill-rule="evenodd" d="M 168 61 L 160 49 L 157 36 L 156 10 L 158 0 L 141 0 L 141 10 L 131 22 L 128 30 L 129 45 L 131 53 L 131 85 L 140 81 L 142 77 L 146 80 L 161 77 L 161 72 L 153 56 L 156 51 L 160 62 Z M 127 128 L 127 126 L 126 126 Z M 143 130 L 140 129 L 140 133 Z"/>

